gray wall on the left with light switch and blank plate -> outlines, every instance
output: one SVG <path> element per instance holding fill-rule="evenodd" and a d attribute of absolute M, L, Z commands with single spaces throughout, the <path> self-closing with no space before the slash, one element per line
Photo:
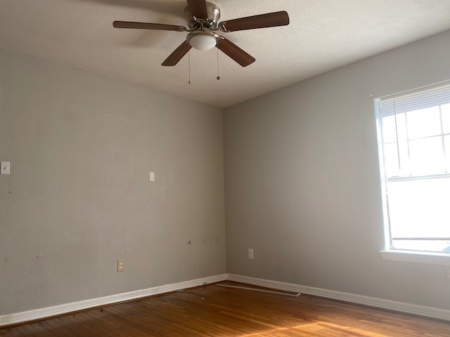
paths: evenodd
<path fill-rule="evenodd" d="M 8 53 L 0 74 L 0 315 L 226 272 L 221 110 Z"/>

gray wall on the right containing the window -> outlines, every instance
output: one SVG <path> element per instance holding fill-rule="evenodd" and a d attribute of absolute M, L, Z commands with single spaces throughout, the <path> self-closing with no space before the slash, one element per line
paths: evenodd
<path fill-rule="evenodd" d="M 380 256 L 371 98 L 448 80 L 449 60 L 446 32 L 226 109 L 228 272 L 450 309 L 444 267 Z"/>

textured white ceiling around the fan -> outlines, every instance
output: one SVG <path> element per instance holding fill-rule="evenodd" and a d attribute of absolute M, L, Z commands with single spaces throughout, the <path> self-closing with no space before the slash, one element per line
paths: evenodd
<path fill-rule="evenodd" d="M 222 33 L 256 58 L 217 49 L 161 63 L 186 32 L 113 28 L 114 20 L 186 25 L 184 0 L 0 0 L 0 48 L 228 107 L 450 29 L 450 0 L 212 0 L 221 20 L 288 11 L 290 25 Z"/>

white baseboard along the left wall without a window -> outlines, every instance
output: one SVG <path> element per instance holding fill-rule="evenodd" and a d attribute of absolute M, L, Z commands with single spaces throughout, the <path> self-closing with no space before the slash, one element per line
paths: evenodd
<path fill-rule="evenodd" d="M 164 286 L 155 286 L 153 288 L 130 291 L 129 293 L 118 293 L 116 295 L 105 296 L 101 298 L 93 298 L 91 300 L 81 300 L 75 303 L 55 305 L 54 307 L 49 308 L 41 308 L 25 312 L 18 312 L 11 315 L 2 315 L 0 316 L 0 326 L 30 322 L 34 321 L 35 319 L 43 319 L 47 317 L 67 314 L 68 312 L 86 310 L 89 308 L 95 308 L 102 305 L 120 303 L 127 300 L 135 300 L 136 298 L 158 295 L 160 293 L 168 293 L 170 291 L 177 291 L 180 289 L 193 288 L 194 286 L 201 286 L 203 284 L 224 281 L 226 280 L 226 277 L 227 277 L 226 274 L 216 275 L 212 277 L 204 277 L 202 279 L 193 279 L 191 281 L 186 282 L 166 284 Z"/>

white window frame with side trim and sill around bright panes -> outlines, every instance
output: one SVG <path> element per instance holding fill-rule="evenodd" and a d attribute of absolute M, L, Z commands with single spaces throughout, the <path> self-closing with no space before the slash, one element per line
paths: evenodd
<path fill-rule="evenodd" d="M 444 82 L 442 84 L 437 84 L 431 87 L 438 86 L 448 86 L 450 81 Z M 427 90 L 427 87 L 419 88 L 417 91 Z M 413 91 L 398 93 L 397 95 L 406 95 Z M 391 232 L 389 225 L 389 217 L 387 213 L 387 195 L 386 195 L 386 184 L 387 176 L 385 172 L 384 164 L 384 150 L 383 150 L 383 116 L 381 110 L 381 100 L 383 98 L 375 98 L 375 114 L 376 114 L 376 125 L 378 134 L 378 154 L 380 162 L 380 178 L 381 178 L 381 197 L 383 201 L 383 224 L 385 233 L 385 247 L 380 251 L 383 260 L 406 262 L 406 263 L 426 263 L 432 265 L 450 265 L 450 254 L 449 253 L 439 253 L 435 251 L 406 251 L 401 249 L 391 249 Z"/>

